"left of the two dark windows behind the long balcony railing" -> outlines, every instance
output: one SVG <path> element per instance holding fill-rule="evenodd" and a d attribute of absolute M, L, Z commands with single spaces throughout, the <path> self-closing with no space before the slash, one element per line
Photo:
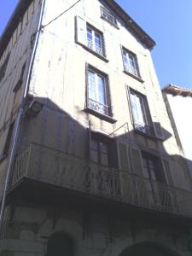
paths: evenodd
<path fill-rule="evenodd" d="M 87 172 L 87 187 L 92 184 L 98 193 L 120 194 L 119 173 L 111 172 L 110 167 L 118 166 L 117 144 L 99 132 L 90 133 L 90 160 L 92 173 Z M 93 162 L 95 164 L 93 164 Z M 92 182 L 90 182 L 92 179 Z"/>

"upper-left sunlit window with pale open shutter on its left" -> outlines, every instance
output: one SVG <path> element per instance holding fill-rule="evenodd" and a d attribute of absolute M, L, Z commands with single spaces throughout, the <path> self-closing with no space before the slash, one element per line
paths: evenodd
<path fill-rule="evenodd" d="M 87 46 L 99 55 L 104 55 L 103 37 L 101 32 L 87 26 Z"/>

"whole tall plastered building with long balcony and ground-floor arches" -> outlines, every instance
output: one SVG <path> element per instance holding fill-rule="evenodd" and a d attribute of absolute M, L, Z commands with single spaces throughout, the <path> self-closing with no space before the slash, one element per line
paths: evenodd
<path fill-rule="evenodd" d="M 113 0 L 20 0 L 0 41 L 0 255 L 191 255 L 154 45 Z"/>

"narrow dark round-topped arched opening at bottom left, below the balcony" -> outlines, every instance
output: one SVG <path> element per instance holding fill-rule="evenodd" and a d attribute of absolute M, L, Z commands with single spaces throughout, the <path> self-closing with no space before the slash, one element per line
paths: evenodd
<path fill-rule="evenodd" d="M 50 236 L 47 256 L 73 256 L 73 240 L 63 233 Z"/>

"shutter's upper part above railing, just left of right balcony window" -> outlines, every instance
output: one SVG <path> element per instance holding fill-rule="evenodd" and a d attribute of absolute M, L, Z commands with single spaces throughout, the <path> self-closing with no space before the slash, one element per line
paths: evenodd
<path fill-rule="evenodd" d="M 131 148 L 131 159 L 133 172 L 138 176 L 143 176 L 143 161 L 141 151 L 137 148 Z"/>

